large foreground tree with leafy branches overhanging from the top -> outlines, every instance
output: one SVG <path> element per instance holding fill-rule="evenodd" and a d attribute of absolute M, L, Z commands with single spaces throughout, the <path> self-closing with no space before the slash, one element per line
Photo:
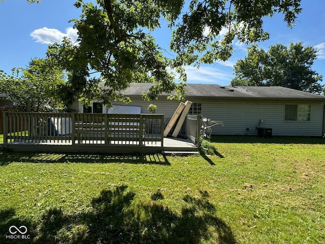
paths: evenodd
<path fill-rule="evenodd" d="M 39 2 L 29 0 L 29 2 Z M 129 102 L 120 90 L 130 82 L 152 82 L 143 99 L 151 101 L 163 92 L 181 99 L 186 74 L 184 66 L 214 63 L 228 59 L 235 39 L 253 43 L 269 38 L 263 29 L 263 18 L 276 13 L 284 15 L 289 27 L 301 12 L 301 0 L 98 0 L 75 6 L 82 9 L 77 43 L 63 40 L 48 49 L 48 56 L 70 72 L 61 94 L 73 98 Z M 173 29 L 170 43 L 174 59 L 164 57 L 150 32 L 160 27 L 161 19 Z M 226 34 L 220 37 L 220 32 Z M 170 69 L 180 73 L 175 84 Z M 94 73 L 98 73 L 95 77 Z M 99 89 L 99 84 L 104 84 Z M 104 93 L 103 93 L 104 92 Z"/>

